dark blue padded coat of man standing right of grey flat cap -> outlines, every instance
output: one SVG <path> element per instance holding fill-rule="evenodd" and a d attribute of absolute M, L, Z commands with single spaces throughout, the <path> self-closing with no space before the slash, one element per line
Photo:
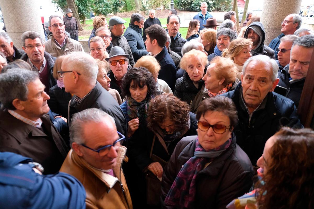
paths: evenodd
<path fill-rule="evenodd" d="M 131 48 L 134 62 L 148 54 L 143 41 L 142 29 L 138 28 L 137 25 L 129 24 L 123 36 L 127 39 L 127 43 Z"/>

